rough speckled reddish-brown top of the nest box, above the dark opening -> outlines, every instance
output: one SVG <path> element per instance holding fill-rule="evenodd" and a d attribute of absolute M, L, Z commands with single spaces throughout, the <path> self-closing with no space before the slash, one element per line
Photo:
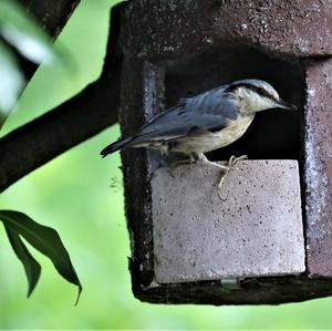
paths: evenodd
<path fill-rule="evenodd" d="M 135 0 L 125 20 L 123 46 L 136 56 L 173 56 L 222 42 L 273 55 L 332 53 L 331 0 Z"/>

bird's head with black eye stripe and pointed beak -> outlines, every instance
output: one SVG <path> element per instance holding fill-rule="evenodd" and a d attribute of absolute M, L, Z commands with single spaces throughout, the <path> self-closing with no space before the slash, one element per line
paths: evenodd
<path fill-rule="evenodd" d="M 295 108 L 281 100 L 278 92 L 269 83 L 260 80 L 232 82 L 226 92 L 238 101 L 241 112 L 246 114 L 255 114 L 270 108 Z"/>

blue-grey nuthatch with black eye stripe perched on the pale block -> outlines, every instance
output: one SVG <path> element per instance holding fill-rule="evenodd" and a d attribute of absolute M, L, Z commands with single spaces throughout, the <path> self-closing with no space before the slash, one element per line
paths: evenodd
<path fill-rule="evenodd" d="M 249 127 L 255 114 L 269 108 L 293 108 L 260 80 L 241 80 L 179 103 L 152 118 L 138 132 L 105 147 L 105 157 L 124 147 L 152 147 L 207 162 L 204 153 L 225 147 Z M 234 164 L 236 158 L 231 158 Z"/>

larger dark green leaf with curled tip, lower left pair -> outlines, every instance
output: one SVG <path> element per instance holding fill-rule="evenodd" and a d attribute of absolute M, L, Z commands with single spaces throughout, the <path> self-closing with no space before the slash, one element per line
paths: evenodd
<path fill-rule="evenodd" d="M 0 210 L 0 219 L 6 228 L 22 236 L 31 246 L 50 258 L 64 279 L 77 286 L 77 303 L 82 286 L 58 232 L 35 223 L 25 214 L 14 210 Z"/>

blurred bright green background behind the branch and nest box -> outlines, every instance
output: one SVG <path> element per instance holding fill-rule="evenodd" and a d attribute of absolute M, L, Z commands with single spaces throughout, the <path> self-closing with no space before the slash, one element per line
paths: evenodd
<path fill-rule="evenodd" d="M 83 0 L 59 41 L 76 71 L 40 68 L 2 133 L 54 107 L 97 77 L 102 68 L 108 9 L 115 0 Z M 70 127 L 68 130 L 71 130 Z M 27 281 L 4 231 L 0 232 L 1 329 L 330 329 L 332 300 L 279 307 L 156 306 L 131 292 L 129 242 L 123 211 L 118 153 L 98 152 L 118 136 L 106 130 L 21 179 L 0 196 L 2 209 L 27 213 L 55 228 L 81 278 L 76 289 L 41 260 L 42 277 L 27 300 Z M 18 151 L 19 153 L 19 151 Z"/>

